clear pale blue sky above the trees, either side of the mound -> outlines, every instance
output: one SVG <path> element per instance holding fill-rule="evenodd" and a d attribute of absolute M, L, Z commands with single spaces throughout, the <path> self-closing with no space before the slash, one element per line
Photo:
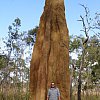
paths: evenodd
<path fill-rule="evenodd" d="M 21 31 L 27 31 L 39 25 L 45 0 L 0 0 L 0 39 L 8 35 L 8 26 L 15 18 L 21 19 Z M 66 20 L 70 35 L 81 34 L 81 23 L 77 20 L 84 14 L 80 6 L 84 4 L 90 13 L 100 12 L 100 0 L 65 0 Z"/>

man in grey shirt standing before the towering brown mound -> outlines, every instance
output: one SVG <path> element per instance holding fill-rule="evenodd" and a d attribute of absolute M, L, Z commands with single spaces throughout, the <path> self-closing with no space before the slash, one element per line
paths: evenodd
<path fill-rule="evenodd" d="M 52 82 L 51 87 L 48 90 L 47 100 L 60 100 L 60 92 L 59 89 Z"/>

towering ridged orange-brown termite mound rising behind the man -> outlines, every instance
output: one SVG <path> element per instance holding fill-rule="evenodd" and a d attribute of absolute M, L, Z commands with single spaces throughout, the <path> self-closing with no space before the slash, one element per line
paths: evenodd
<path fill-rule="evenodd" d="M 51 82 L 61 100 L 70 100 L 68 41 L 64 0 L 46 0 L 30 66 L 30 100 L 46 100 Z"/>

